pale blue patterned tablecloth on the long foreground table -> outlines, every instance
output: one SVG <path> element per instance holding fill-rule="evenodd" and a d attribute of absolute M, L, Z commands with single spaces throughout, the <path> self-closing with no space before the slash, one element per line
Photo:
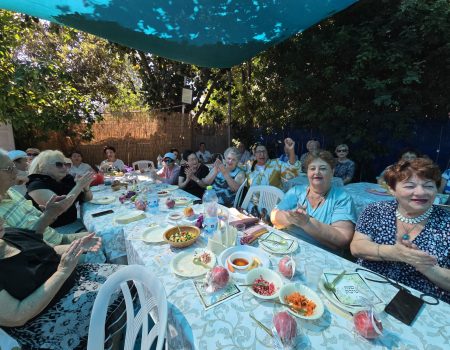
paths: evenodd
<path fill-rule="evenodd" d="M 157 186 L 164 188 L 164 185 Z M 105 187 L 96 195 L 118 197 L 121 192 L 112 192 Z M 173 193 L 194 198 L 179 189 Z M 103 237 L 108 257 L 116 258 L 126 252 L 130 264 L 147 266 L 161 279 L 169 302 L 167 336 L 170 349 L 273 349 L 270 337 L 250 318 L 250 313 L 253 313 L 258 320 L 270 325 L 274 313 L 273 304 L 255 298 L 243 288 L 243 292 L 237 297 L 205 311 L 193 280 L 178 277 L 171 271 L 171 259 L 182 250 L 172 249 L 165 243 L 149 244 L 131 239 L 142 227 L 148 227 L 150 223 L 164 224 L 167 221 L 170 210 L 165 208 L 164 200 L 160 201 L 158 214 L 147 214 L 145 219 L 127 225 L 116 224 L 110 215 L 92 218 L 93 212 L 108 208 L 112 208 L 115 214 L 131 209 L 129 204 L 120 204 L 118 200 L 107 205 L 84 204 L 85 223 Z M 197 212 L 201 210 L 199 206 L 194 208 Z M 273 228 L 270 230 L 276 231 Z M 207 241 L 201 237 L 193 248 L 205 247 L 206 244 Z M 358 268 L 358 265 L 306 242 L 298 240 L 298 244 L 299 249 L 293 257 L 300 266 L 299 271 L 308 270 L 310 265 L 318 265 L 324 270 L 345 269 L 348 272 Z M 255 246 L 258 247 L 258 244 Z M 281 256 L 269 254 L 269 257 L 272 268 L 276 269 Z M 298 272 L 293 282 L 305 283 L 304 274 Z M 397 289 L 390 284 L 370 281 L 368 284 L 386 304 L 397 293 Z M 417 294 L 415 291 L 413 293 Z M 442 301 L 438 305 L 425 304 L 411 327 L 382 313 L 383 336 L 367 341 L 355 335 L 349 313 L 338 309 L 323 295 L 321 298 L 325 313 L 320 319 L 297 319 L 298 349 L 445 349 L 450 344 L 450 305 Z M 0 332 L 0 345 L 6 344 L 3 343 L 7 341 L 4 336 Z"/>

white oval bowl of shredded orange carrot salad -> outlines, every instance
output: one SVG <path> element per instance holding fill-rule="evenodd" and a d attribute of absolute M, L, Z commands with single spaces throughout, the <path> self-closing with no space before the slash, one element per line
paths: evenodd
<path fill-rule="evenodd" d="M 286 309 L 294 316 L 307 320 L 320 318 L 324 312 L 323 302 L 312 289 L 298 283 L 284 285 L 279 293 L 280 302 L 290 305 Z"/>

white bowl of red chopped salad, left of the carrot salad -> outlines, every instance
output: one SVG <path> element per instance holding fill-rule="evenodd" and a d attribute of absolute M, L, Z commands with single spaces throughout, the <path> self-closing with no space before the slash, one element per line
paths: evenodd
<path fill-rule="evenodd" d="M 257 298 L 275 299 L 278 298 L 283 280 L 275 271 L 259 267 L 247 273 L 245 286 Z"/>

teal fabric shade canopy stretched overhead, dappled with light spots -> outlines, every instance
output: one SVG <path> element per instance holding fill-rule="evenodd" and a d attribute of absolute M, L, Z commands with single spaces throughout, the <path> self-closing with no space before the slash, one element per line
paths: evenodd
<path fill-rule="evenodd" d="M 0 0 L 0 8 L 173 60 L 227 68 L 356 1 Z"/>

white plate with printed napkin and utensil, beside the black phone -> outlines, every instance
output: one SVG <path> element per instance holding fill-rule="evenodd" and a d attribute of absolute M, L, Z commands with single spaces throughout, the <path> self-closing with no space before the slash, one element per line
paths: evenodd
<path fill-rule="evenodd" d="M 350 313 L 367 309 L 368 302 L 377 311 L 384 309 L 385 303 L 369 287 L 364 277 L 357 272 L 348 272 L 335 285 L 336 291 L 329 291 L 324 287 L 325 282 L 332 282 L 342 270 L 326 270 L 319 281 L 319 289 L 334 305 Z"/>

